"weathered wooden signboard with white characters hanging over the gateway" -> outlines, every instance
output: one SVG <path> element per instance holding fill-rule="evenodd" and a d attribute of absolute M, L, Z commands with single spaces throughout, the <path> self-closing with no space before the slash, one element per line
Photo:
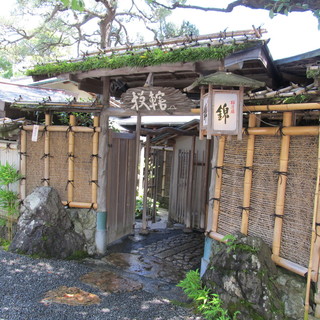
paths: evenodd
<path fill-rule="evenodd" d="M 195 106 L 180 90 L 166 87 L 137 87 L 121 96 L 125 109 L 143 113 L 189 111 Z"/>

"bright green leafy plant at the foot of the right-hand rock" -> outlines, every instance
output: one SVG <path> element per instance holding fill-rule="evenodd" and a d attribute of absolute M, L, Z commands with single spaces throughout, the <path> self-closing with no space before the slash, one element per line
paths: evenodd
<path fill-rule="evenodd" d="M 208 320 L 235 320 L 239 311 L 234 312 L 231 317 L 223 308 L 218 294 L 211 293 L 210 289 L 203 286 L 199 270 L 190 270 L 185 279 L 179 282 L 186 295 L 194 301 L 195 308 L 205 319 Z"/>

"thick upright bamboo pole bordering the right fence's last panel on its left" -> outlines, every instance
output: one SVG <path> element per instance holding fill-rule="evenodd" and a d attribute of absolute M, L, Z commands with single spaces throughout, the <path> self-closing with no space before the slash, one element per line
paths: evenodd
<path fill-rule="evenodd" d="M 292 112 L 285 112 L 283 114 L 283 126 L 290 126 L 292 124 Z M 275 208 L 275 223 L 274 234 L 272 243 L 272 253 L 275 256 L 280 256 L 280 243 L 281 233 L 283 225 L 284 215 L 284 202 L 287 185 L 287 172 L 288 172 L 288 160 L 289 160 L 289 146 L 290 136 L 283 135 L 281 138 L 281 152 L 280 152 L 280 165 L 279 165 L 279 179 L 278 179 L 278 191 Z"/>

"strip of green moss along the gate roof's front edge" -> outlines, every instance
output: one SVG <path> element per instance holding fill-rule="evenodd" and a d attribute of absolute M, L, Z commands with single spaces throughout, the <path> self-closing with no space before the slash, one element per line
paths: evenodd
<path fill-rule="evenodd" d="M 146 67 L 163 63 L 193 62 L 201 60 L 220 60 L 231 53 L 256 46 L 259 41 L 207 47 L 186 47 L 176 50 L 153 49 L 144 52 L 126 52 L 110 56 L 97 55 L 85 57 L 81 61 L 61 61 L 36 65 L 27 70 L 29 76 L 55 76 L 62 73 L 90 71 L 95 69 L 118 69 L 122 67 Z"/>

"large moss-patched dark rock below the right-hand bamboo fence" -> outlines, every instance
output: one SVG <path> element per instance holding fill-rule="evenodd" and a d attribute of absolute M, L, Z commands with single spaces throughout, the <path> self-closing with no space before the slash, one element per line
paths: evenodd
<path fill-rule="evenodd" d="M 239 320 L 302 319 L 293 316 L 294 306 L 288 305 L 292 297 L 283 300 L 286 294 L 283 284 L 289 280 L 277 280 L 278 277 L 269 247 L 260 238 L 237 234 L 228 245 L 215 244 L 215 254 L 203 282 L 220 295 L 231 313 L 241 312 Z M 288 310 L 290 315 L 285 314 Z M 300 310 L 303 312 L 303 305 Z"/>

